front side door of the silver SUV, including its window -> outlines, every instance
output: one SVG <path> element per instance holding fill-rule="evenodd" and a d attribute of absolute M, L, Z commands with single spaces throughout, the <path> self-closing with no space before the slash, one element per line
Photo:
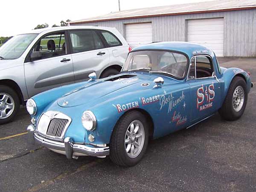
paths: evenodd
<path fill-rule="evenodd" d="M 73 83 L 73 61 L 68 49 L 67 32 L 42 36 L 25 59 L 25 79 L 29 97 L 45 90 Z"/>

